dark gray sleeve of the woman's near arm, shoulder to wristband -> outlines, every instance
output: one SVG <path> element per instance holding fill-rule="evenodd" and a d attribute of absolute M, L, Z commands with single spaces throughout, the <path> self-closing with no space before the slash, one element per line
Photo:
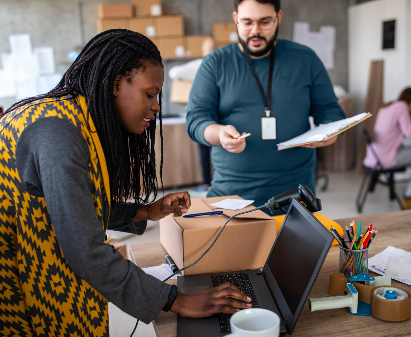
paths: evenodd
<path fill-rule="evenodd" d="M 69 266 L 107 300 L 149 323 L 166 303 L 171 286 L 145 274 L 103 243 L 89 160 L 88 144 L 80 131 L 58 117 L 26 127 L 16 144 L 19 177 L 28 193 L 44 196 Z"/>

